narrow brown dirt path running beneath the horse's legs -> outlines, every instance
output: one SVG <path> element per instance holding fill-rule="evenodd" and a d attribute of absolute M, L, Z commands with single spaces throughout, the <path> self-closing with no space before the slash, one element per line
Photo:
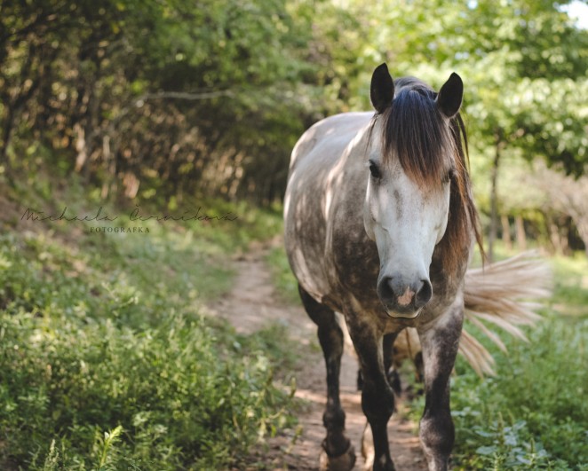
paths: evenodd
<path fill-rule="evenodd" d="M 269 450 L 258 459 L 270 469 L 317 469 L 324 438 L 322 412 L 325 404 L 325 370 L 322 352 L 316 341 L 316 327 L 301 306 L 287 306 L 277 299 L 271 273 L 264 262 L 264 249 L 254 248 L 235 263 L 234 288 L 225 299 L 211 305 L 211 310 L 229 320 L 238 332 L 250 334 L 278 322 L 288 327 L 292 339 L 300 345 L 305 358 L 297 373 L 296 396 L 306 401 L 298 415 L 298 431 L 284 432 L 270 441 Z M 346 411 L 346 433 L 355 447 L 354 469 L 363 469 L 361 438 L 366 420 L 361 395 L 356 390 L 357 363 L 348 352 L 341 368 L 341 401 Z M 400 405 L 401 406 L 401 405 Z M 388 433 L 394 464 L 399 471 L 425 471 L 425 458 L 414 433 L 415 424 L 394 414 Z"/>

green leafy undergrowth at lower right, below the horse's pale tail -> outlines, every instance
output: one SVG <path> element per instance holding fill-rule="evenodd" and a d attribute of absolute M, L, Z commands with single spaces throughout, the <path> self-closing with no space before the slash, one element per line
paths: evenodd
<path fill-rule="evenodd" d="M 529 343 L 494 351 L 495 378 L 459 361 L 452 379 L 458 469 L 588 469 L 588 320 L 550 317 Z"/>

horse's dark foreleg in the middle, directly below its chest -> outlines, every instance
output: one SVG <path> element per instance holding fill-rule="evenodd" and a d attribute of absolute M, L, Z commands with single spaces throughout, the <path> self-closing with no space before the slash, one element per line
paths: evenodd
<path fill-rule="evenodd" d="M 387 425 L 394 410 L 394 395 L 386 378 L 382 338 L 366 325 L 351 326 L 350 334 L 362 367 L 362 409 L 369 422 L 363 436 L 363 455 L 368 467 L 393 471 Z"/>

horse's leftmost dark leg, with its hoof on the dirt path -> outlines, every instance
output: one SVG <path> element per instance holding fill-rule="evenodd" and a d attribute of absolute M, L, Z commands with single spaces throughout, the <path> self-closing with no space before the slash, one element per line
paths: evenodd
<path fill-rule="evenodd" d="M 327 437 L 322 443 L 322 470 L 349 471 L 354 467 L 354 447 L 345 436 L 345 412 L 339 398 L 339 372 L 343 355 L 343 332 L 338 326 L 335 313 L 316 302 L 310 294 L 298 286 L 300 298 L 308 316 L 318 326 L 318 336 L 327 365 L 327 407 L 322 421 Z"/>

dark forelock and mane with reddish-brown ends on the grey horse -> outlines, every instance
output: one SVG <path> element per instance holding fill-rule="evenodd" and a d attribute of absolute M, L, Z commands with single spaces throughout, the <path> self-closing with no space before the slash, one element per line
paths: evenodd
<path fill-rule="evenodd" d="M 382 121 L 384 164 L 398 159 L 409 178 L 423 188 L 440 185 L 447 172 L 454 170 L 448 227 L 439 243 L 443 265 L 451 271 L 463 260 L 473 237 L 483 255 L 480 220 L 468 173 L 465 124 L 457 114 L 448 126 L 435 103 L 437 93 L 414 77 L 396 80 L 394 89 L 392 106 L 376 114 L 372 122 L 373 129 L 377 121 Z"/>

